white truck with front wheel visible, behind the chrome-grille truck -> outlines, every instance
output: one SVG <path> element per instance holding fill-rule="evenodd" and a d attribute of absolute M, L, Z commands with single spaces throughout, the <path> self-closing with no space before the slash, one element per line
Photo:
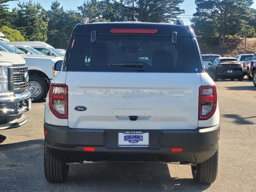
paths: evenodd
<path fill-rule="evenodd" d="M 46 98 L 49 90 L 50 82 L 56 72 L 52 70 L 52 66 L 57 61 L 62 61 L 61 57 L 51 57 L 44 55 L 24 54 L 18 48 L 14 48 L 0 41 L 0 50 L 17 53 L 26 60 L 28 66 L 28 74 L 30 76 L 28 82 L 28 90 L 31 92 L 31 98 L 34 101 L 40 101 Z"/>

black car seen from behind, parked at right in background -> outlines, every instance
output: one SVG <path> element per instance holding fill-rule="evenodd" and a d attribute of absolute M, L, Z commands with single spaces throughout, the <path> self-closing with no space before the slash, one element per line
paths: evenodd
<path fill-rule="evenodd" d="M 238 79 L 242 81 L 244 79 L 244 73 L 242 64 L 238 62 L 236 58 L 221 57 L 216 58 L 208 68 L 208 74 L 214 81 L 218 79 Z"/>

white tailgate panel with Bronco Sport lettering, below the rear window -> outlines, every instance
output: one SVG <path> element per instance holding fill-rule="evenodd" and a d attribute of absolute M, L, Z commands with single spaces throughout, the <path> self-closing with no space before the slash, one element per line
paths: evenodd
<path fill-rule="evenodd" d="M 66 84 L 70 128 L 198 127 L 200 74 L 68 72 Z M 87 110 L 76 111 L 76 106 Z"/>

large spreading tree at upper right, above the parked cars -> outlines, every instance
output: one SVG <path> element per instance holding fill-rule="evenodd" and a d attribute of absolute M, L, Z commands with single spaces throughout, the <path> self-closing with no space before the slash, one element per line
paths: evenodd
<path fill-rule="evenodd" d="M 192 26 L 202 38 L 218 37 L 224 47 L 226 36 L 240 32 L 252 17 L 253 0 L 195 0 L 196 13 Z"/>

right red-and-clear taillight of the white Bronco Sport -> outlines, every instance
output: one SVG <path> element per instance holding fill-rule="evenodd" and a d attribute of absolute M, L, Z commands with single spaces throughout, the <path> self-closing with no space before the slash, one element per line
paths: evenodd
<path fill-rule="evenodd" d="M 208 120 L 217 107 L 217 90 L 215 85 L 200 86 L 198 120 Z"/>

